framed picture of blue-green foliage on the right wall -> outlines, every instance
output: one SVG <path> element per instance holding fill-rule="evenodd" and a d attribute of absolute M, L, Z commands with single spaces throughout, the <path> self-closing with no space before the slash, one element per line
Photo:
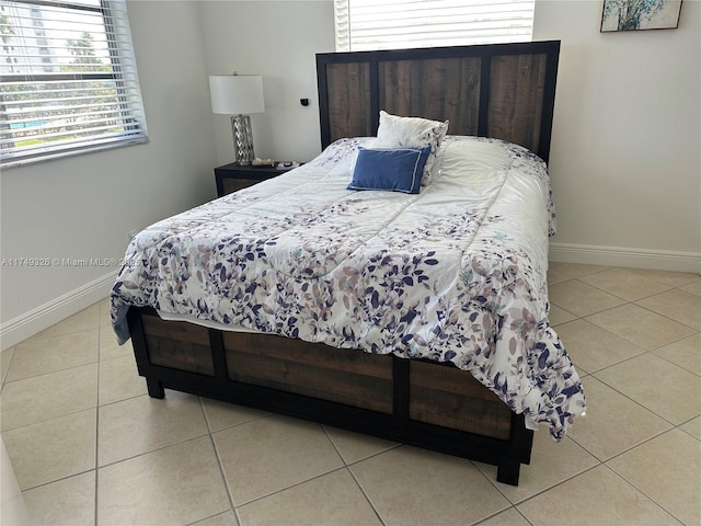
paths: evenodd
<path fill-rule="evenodd" d="M 674 30 L 680 12 L 681 0 L 604 0 L 601 33 Z"/>

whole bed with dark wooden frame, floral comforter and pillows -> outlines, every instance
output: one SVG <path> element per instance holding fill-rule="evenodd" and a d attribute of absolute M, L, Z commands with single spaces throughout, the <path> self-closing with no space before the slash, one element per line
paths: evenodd
<path fill-rule="evenodd" d="M 127 249 L 112 320 L 149 395 L 372 434 L 518 484 L 533 430 L 561 441 L 586 408 L 548 323 L 559 49 L 317 55 L 322 153 Z M 410 187 L 367 190 L 399 150 Z"/>

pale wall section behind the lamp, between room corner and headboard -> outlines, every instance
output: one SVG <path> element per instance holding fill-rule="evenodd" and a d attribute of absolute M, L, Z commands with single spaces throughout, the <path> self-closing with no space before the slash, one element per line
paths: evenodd
<path fill-rule="evenodd" d="M 319 155 L 315 54 L 334 50 L 333 2 L 202 1 L 199 12 L 209 75 L 263 76 L 265 112 L 251 115 L 255 156 L 309 161 Z M 232 162 L 229 117 L 215 115 L 215 125 L 218 161 Z"/>

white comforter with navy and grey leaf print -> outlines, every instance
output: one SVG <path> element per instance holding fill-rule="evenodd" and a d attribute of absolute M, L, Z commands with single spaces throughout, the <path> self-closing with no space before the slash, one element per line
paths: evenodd
<path fill-rule="evenodd" d="M 162 220 L 129 244 L 112 290 L 129 306 L 335 347 L 452 362 L 555 441 L 585 410 L 548 322 L 544 163 L 448 137 L 420 194 L 353 192 L 342 139 L 312 162 Z"/>

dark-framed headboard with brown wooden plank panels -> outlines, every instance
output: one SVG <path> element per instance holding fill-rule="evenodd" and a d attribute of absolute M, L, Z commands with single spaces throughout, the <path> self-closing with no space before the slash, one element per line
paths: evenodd
<path fill-rule="evenodd" d="M 449 119 L 548 161 L 560 41 L 317 55 L 321 142 L 375 136 L 379 111 Z"/>

